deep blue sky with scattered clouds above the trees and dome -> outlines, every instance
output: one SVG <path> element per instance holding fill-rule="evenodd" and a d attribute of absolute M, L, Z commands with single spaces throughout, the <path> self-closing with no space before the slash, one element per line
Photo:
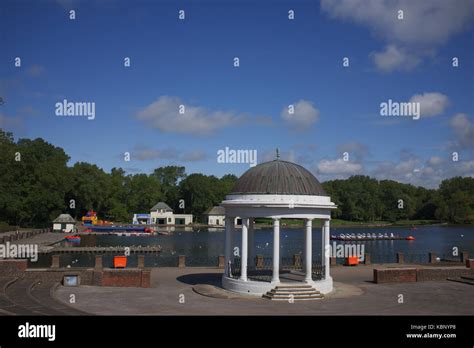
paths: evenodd
<path fill-rule="evenodd" d="M 249 165 L 218 163 L 218 150 L 257 150 L 264 162 L 278 147 L 321 181 L 367 174 L 436 187 L 474 176 L 472 0 L 0 6 L 0 127 L 64 148 L 70 165 L 240 175 Z M 95 119 L 56 116 L 64 99 L 94 102 Z M 388 99 L 419 101 L 421 118 L 381 116 Z"/>

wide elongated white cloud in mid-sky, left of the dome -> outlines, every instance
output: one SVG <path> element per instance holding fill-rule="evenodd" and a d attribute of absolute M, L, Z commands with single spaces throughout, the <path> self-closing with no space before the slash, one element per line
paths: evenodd
<path fill-rule="evenodd" d="M 184 114 L 179 113 L 180 105 L 185 107 Z M 161 96 L 141 109 L 136 117 L 163 132 L 199 135 L 214 133 L 247 118 L 244 114 L 232 111 L 211 111 L 200 106 L 186 105 L 180 98 L 172 96 Z"/>

